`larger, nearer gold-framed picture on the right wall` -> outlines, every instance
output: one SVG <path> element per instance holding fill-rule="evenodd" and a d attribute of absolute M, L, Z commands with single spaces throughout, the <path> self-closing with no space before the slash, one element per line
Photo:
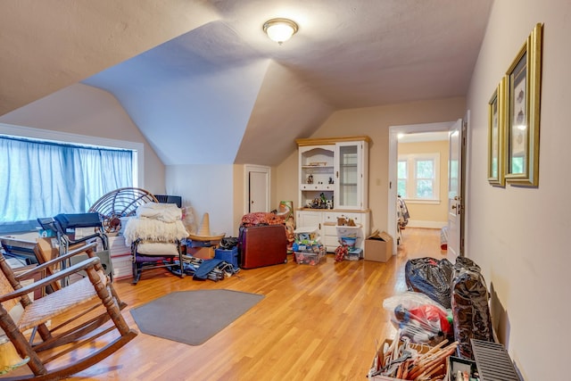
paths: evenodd
<path fill-rule="evenodd" d="M 537 24 L 506 73 L 505 177 L 514 186 L 539 186 L 542 31 L 543 24 Z"/>

